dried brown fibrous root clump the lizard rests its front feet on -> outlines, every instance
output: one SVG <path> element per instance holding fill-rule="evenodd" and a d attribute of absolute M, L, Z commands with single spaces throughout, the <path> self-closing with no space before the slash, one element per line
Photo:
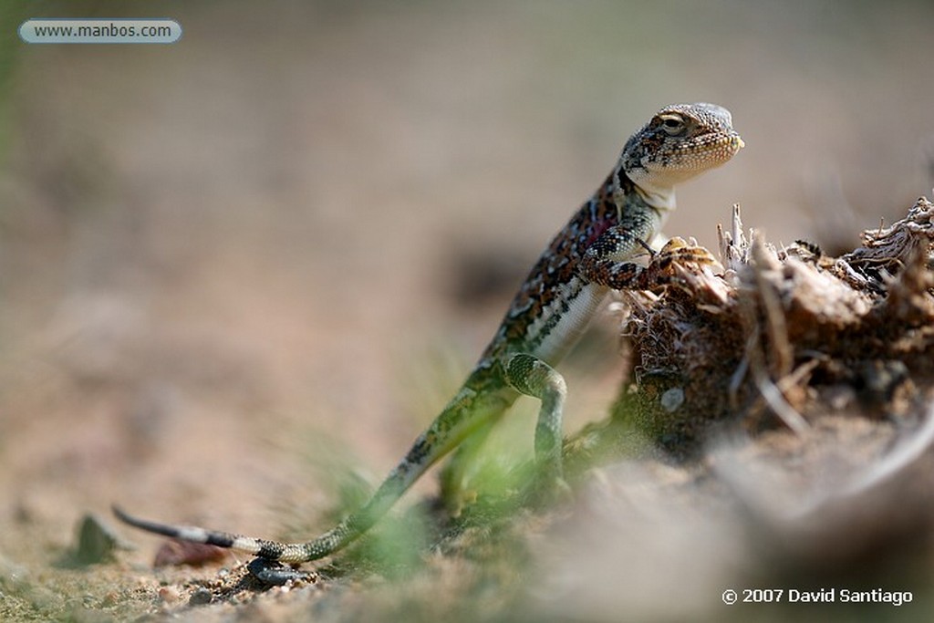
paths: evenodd
<path fill-rule="evenodd" d="M 724 266 L 674 267 L 624 292 L 630 378 L 614 421 L 689 455 L 715 427 L 803 432 L 830 412 L 916 413 L 934 380 L 934 205 L 918 199 L 862 246 L 829 258 L 719 230 Z"/>

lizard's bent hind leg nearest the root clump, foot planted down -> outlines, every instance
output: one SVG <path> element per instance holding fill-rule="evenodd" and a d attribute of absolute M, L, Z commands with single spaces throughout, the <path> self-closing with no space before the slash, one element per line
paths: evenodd
<path fill-rule="evenodd" d="M 506 362 L 506 380 L 519 392 L 542 401 L 535 424 L 535 460 L 545 478 L 562 485 L 561 418 L 568 393 L 564 377 L 545 361 L 518 353 Z"/>

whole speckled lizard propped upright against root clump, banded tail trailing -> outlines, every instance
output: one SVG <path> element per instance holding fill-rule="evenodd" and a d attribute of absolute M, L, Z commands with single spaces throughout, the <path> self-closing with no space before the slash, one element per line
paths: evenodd
<path fill-rule="evenodd" d="M 534 432 L 539 474 L 560 485 L 567 388 L 554 366 L 611 290 L 648 290 L 666 264 L 695 259 L 691 249 L 703 251 L 680 238 L 672 238 L 660 252 L 652 244 L 675 207 L 675 185 L 727 163 L 742 148 L 729 110 L 713 104 L 665 106 L 631 135 L 610 174 L 532 266 L 460 390 L 369 501 L 332 530 L 312 541 L 288 544 L 149 521 L 117 506 L 114 513 L 144 531 L 258 559 L 302 563 L 325 558 L 373 527 L 435 462 L 459 446 L 465 452 L 470 444 L 464 442 L 472 436 L 471 443 L 484 437 L 522 394 L 541 403 Z M 645 253 L 651 256 L 646 265 L 635 261 Z"/>

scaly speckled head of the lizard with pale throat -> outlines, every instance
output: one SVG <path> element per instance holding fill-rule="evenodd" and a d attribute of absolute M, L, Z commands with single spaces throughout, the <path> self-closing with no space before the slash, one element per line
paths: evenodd
<path fill-rule="evenodd" d="M 727 163 L 742 148 L 743 139 L 733 130 L 726 108 L 665 106 L 627 141 L 617 166 L 617 183 L 622 177 L 618 174 L 625 173 L 650 204 L 673 205 L 676 184 Z"/>

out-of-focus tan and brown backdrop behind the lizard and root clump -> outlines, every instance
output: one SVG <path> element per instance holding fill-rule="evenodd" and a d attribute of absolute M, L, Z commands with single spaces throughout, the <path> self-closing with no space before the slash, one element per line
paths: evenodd
<path fill-rule="evenodd" d="M 16 36 L 121 16 L 184 34 Z M 334 447 L 385 474 L 661 106 L 727 106 L 746 142 L 679 190 L 667 231 L 704 245 L 739 203 L 771 241 L 832 252 L 934 184 L 927 1 L 13 2 L 0 20 L 0 550 L 27 564 L 115 500 L 268 534 L 327 504 L 309 461 Z M 598 324 L 568 431 L 620 380 Z"/>

